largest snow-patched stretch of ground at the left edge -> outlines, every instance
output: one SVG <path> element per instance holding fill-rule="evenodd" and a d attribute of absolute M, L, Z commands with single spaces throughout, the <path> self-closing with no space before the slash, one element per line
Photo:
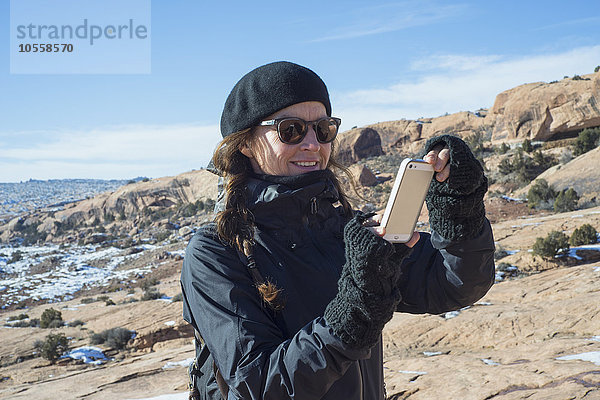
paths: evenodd
<path fill-rule="evenodd" d="M 157 246 L 144 244 L 144 250 Z M 7 264 L 0 259 L 0 306 L 6 308 L 25 299 L 69 300 L 72 294 L 85 288 L 108 284 L 112 279 L 128 279 L 131 275 L 150 272 L 148 265 L 143 268 L 117 270 L 124 261 L 140 257 L 143 252 L 120 255 L 123 250 L 100 246 L 70 246 L 59 248 L 56 245 L 4 247 L 0 253 L 9 258 L 20 251 L 22 259 Z M 58 265 L 50 271 L 31 273 L 31 268 L 53 257 Z M 90 265 L 93 264 L 93 265 Z"/>

